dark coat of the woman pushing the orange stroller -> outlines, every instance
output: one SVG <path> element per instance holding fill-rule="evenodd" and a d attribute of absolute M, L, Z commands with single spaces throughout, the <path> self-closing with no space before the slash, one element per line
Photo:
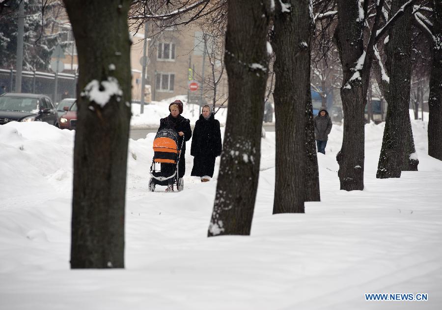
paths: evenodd
<path fill-rule="evenodd" d="M 186 172 L 186 141 L 189 141 L 192 137 L 192 129 L 190 128 L 190 120 L 187 118 L 184 118 L 181 115 L 178 115 L 176 118 L 172 116 L 172 114 L 169 114 L 167 117 L 160 119 L 160 128 L 161 129 L 173 129 L 178 134 L 180 131 L 184 133 L 184 143 L 183 148 L 181 149 L 181 157 L 180 157 L 180 163 L 178 164 L 178 177 L 182 178 L 184 176 L 184 172 Z M 178 147 L 181 146 L 181 143 L 183 142 L 183 137 L 178 136 Z M 174 170 L 174 165 L 170 164 L 162 164 L 161 165 L 161 171 L 166 172 L 167 174 L 172 174 Z"/>

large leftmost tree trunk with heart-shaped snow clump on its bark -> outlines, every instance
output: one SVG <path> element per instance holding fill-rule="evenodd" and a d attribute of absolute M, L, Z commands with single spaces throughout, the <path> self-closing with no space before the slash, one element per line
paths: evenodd
<path fill-rule="evenodd" d="M 131 117 L 130 1 L 63 1 L 75 36 L 80 71 L 71 268 L 124 268 Z M 94 87 L 102 96 L 109 93 L 110 97 L 100 100 L 91 92 Z"/>

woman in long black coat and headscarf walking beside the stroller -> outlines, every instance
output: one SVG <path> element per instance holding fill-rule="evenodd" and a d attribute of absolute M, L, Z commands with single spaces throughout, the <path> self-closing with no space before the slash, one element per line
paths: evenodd
<path fill-rule="evenodd" d="M 193 129 L 191 175 L 201 177 L 201 182 L 207 182 L 213 176 L 215 158 L 221 155 L 220 122 L 210 110 L 209 106 L 203 106 Z"/>

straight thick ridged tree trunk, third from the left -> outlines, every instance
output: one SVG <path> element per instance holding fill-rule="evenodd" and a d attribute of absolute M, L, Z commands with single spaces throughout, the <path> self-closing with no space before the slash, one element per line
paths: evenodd
<path fill-rule="evenodd" d="M 282 4 L 290 10 L 282 11 Z M 306 105 L 310 94 L 309 1 L 276 2 L 273 50 L 276 175 L 273 213 L 304 213 L 307 169 Z M 311 102 L 311 98 L 310 98 Z M 309 110 L 312 115 L 312 110 Z M 307 114 L 308 116 L 308 114 Z M 315 152 L 316 153 L 316 152 Z M 316 162 L 317 166 L 317 162 Z"/>

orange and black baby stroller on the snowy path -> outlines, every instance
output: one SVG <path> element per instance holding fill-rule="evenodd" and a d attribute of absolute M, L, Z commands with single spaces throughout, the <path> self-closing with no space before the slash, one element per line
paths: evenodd
<path fill-rule="evenodd" d="M 155 192 L 155 185 L 169 187 L 176 184 L 178 192 L 184 189 L 183 178 L 178 177 L 178 164 L 180 162 L 181 148 L 183 147 L 184 137 L 181 145 L 178 145 L 177 133 L 172 129 L 162 129 L 155 136 L 153 149 L 154 157 L 150 165 L 149 191 Z M 166 172 L 155 169 L 155 164 L 173 165 L 174 169 L 171 175 Z"/>

